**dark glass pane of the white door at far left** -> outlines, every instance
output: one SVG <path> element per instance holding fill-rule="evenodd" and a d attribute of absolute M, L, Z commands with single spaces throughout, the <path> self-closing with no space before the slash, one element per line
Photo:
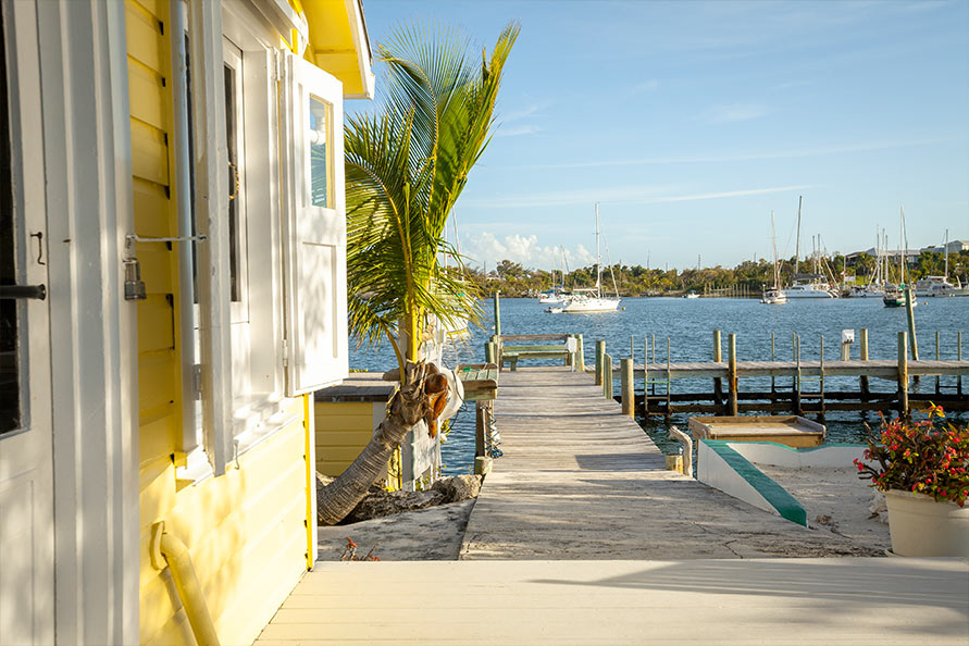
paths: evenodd
<path fill-rule="evenodd" d="M 16 284 L 7 60 L 0 12 L 0 285 Z M 17 301 L 0 300 L 0 434 L 21 426 Z"/>

